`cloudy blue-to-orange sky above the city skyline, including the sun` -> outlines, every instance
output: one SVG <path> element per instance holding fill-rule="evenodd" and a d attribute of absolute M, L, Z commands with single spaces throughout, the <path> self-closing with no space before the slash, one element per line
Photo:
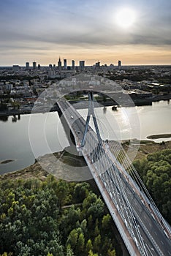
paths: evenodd
<path fill-rule="evenodd" d="M 171 64 L 170 0 L 0 0 L 0 66 Z"/>

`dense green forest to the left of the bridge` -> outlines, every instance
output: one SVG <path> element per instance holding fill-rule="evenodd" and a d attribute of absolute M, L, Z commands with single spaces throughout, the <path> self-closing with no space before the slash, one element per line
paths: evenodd
<path fill-rule="evenodd" d="M 90 185 L 39 179 L 1 181 L 0 255 L 115 256 L 113 221 Z"/>

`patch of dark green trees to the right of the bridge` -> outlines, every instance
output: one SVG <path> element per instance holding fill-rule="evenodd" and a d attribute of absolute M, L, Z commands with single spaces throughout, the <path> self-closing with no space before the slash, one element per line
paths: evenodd
<path fill-rule="evenodd" d="M 134 161 L 134 167 L 161 214 L 171 224 L 171 149 L 148 154 Z"/>

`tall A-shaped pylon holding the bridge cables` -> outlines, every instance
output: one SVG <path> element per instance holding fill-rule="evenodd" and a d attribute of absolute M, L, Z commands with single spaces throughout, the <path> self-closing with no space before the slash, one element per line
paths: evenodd
<path fill-rule="evenodd" d="M 81 141 L 81 147 L 83 147 L 85 145 L 86 134 L 88 132 L 88 124 L 89 124 L 91 116 L 93 117 L 94 127 L 96 129 L 96 135 L 99 140 L 99 144 L 101 145 L 102 138 L 100 137 L 99 127 L 98 127 L 98 124 L 96 121 L 96 116 L 94 113 L 94 91 L 88 91 L 88 115 L 87 115 L 87 119 L 86 119 L 86 127 L 85 127 L 84 134 L 83 134 L 83 140 Z"/>

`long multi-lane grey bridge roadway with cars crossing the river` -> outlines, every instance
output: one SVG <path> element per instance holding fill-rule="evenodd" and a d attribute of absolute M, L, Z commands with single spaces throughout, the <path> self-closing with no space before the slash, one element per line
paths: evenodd
<path fill-rule="evenodd" d="M 58 106 L 79 146 L 86 121 L 66 100 L 58 101 Z M 96 133 L 88 127 L 86 144 L 80 150 L 130 255 L 170 256 L 171 241 L 155 218 L 155 210 L 142 200 L 145 196 L 106 144 L 99 145 Z"/>

